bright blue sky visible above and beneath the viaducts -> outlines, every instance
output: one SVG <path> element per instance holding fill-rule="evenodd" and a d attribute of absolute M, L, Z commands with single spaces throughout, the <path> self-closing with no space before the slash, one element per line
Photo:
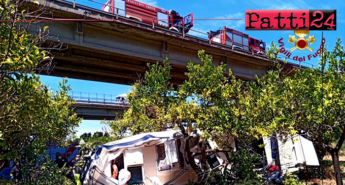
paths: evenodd
<path fill-rule="evenodd" d="M 68 0 L 73 2 L 72 0 Z M 97 0 L 98 2 L 105 3 L 106 0 Z M 326 39 L 328 48 L 333 48 L 337 38 L 345 40 L 345 1 L 333 0 L 333 1 L 321 1 L 321 0 L 296 0 L 296 1 L 281 1 L 281 0 L 247 0 L 247 1 L 235 1 L 235 0 L 198 0 L 198 1 L 164 1 L 164 0 L 141 0 L 140 2 L 147 3 L 152 6 L 156 6 L 165 10 L 176 10 L 180 15 L 187 15 L 193 13 L 194 19 L 243 19 L 243 20 L 196 20 L 194 21 L 194 27 L 192 29 L 206 33 L 209 30 L 217 30 L 224 25 L 238 31 L 248 33 L 250 36 L 261 39 L 269 46 L 271 41 L 274 41 L 278 45 L 278 40 L 284 38 L 283 42 L 287 49 L 293 47 L 287 42 L 288 35 L 294 35 L 293 31 L 246 31 L 245 30 L 245 10 L 337 10 L 337 30 L 336 31 L 323 31 L 323 36 Z M 100 9 L 101 5 L 86 0 L 76 0 L 77 4 L 85 5 L 88 7 Z M 189 34 L 207 38 L 206 35 L 197 32 L 190 31 Z M 314 49 L 314 52 L 308 50 L 292 52 L 292 56 L 307 56 L 314 54 L 317 48 L 320 46 L 322 32 L 310 31 L 309 35 L 315 35 L 316 42 L 310 45 Z M 290 62 L 296 62 L 288 60 Z M 306 61 L 310 64 L 316 65 L 318 59 L 312 59 Z M 310 66 L 309 64 L 302 64 Z M 57 82 L 61 78 L 41 76 L 43 84 L 49 85 L 51 88 L 57 88 Z M 92 81 L 83 81 L 69 79 L 68 83 L 71 84 L 73 91 L 92 92 L 92 93 L 104 93 L 119 95 L 129 92 L 130 86 L 100 83 Z M 99 123 L 99 120 L 85 120 L 77 128 L 77 135 L 81 135 L 84 132 L 94 133 L 101 131 L 104 125 Z"/>

